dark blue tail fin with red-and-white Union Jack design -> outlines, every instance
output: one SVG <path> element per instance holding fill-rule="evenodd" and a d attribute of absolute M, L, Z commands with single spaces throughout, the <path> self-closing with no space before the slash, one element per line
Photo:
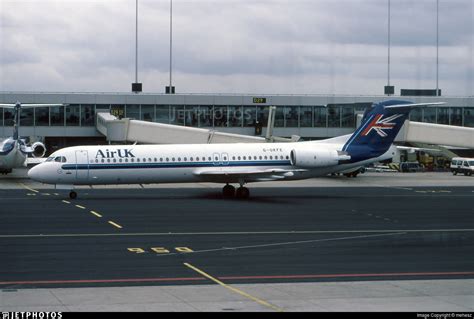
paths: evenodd
<path fill-rule="evenodd" d="M 405 123 L 410 110 L 417 106 L 439 103 L 412 103 L 390 100 L 374 103 L 362 118 L 360 127 L 344 144 L 342 150 L 351 156 L 351 162 L 359 162 L 384 154 Z"/>

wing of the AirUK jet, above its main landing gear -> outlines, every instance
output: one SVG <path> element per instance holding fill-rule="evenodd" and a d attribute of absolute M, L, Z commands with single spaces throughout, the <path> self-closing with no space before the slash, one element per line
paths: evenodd
<path fill-rule="evenodd" d="M 201 169 L 194 172 L 194 175 L 209 182 L 262 182 L 275 181 L 293 176 L 296 172 L 306 172 L 305 169 L 283 169 L 283 168 L 265 168 L 248 169 L 240 167 L 222 167 Z"/>

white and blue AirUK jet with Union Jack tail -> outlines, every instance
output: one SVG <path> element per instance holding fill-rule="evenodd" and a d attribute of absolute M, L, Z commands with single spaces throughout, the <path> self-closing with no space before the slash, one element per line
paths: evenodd
<path fill-rule="evenodd" d="M 392 144 L 414 104 L 390 100 L 365 111 L 353 133 L 295 143 L 75 146 L 54 152 L 28 176 L 77 193 L 74 185 L 214 182 L 224 197 L 249 197 L 247 183 L 357 172 L 395 154 Z M 238 183 L 235 189 L 231 183 Z"/>

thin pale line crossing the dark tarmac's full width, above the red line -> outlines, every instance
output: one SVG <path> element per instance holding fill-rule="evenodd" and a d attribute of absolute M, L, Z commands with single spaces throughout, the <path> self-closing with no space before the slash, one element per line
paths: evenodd
<path fill-rule="evenodd" d="M 398 220 L 394 220 L 398 222 Z M 248 236 L 248 235 L 317 235 L 317 234 L 371 234 L 371 233 L 456 233 L 474 232 L 474 228 L 455 229 L 372 229 L 372 230 L 303 230 L 303 231 L 263 231 L 263 232 L 168 232 L 168 233 L 75 233 L 75 234 L 18 234 L 0 235 L 0 238 L 35 237 L 108 237 L 108 236 Z"/>

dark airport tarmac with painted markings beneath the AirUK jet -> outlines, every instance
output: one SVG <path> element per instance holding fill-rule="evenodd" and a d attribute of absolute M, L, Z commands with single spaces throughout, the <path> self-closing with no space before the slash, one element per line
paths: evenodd
<path fill-rule="evenodd" d="M 16 174 L 16 175 L 15 175 Z M 2 311 L 474 310 L 474 177 L 81 187 L 0 177 Z"/>

